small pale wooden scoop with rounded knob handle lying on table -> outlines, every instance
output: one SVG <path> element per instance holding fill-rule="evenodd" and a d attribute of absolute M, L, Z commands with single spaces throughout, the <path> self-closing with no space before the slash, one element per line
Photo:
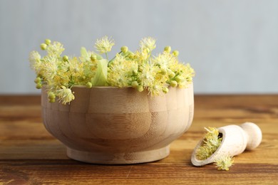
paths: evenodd
<path fill-rule="evenodd" d="M 262 142 L 262 131 L 252 122 L 245 122 L 242 125 L 227 125 L 217 129 L 222 137 L 220 146 L 210 157 L 200 160 L 196 154 L 199 147 L 204 144 L 203 139 L 201 139 L 192 152 L 191 162 L 193 165 L 210 164 L 227 155 L 234 157 L 244 152 L 245 149 L 255 149 Z"/>

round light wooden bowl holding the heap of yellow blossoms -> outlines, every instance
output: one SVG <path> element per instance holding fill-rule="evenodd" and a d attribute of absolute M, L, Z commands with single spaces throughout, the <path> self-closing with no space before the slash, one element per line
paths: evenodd
<path fill-rule="evenodd" d="M 96 164 L 153 162 L 191 125 L 192 85 L 151 97 L 133 88 L 73 87 L 70 105 L 48 102 L 42 89 L 43 124 L 66 145 L 71 159 Z"/>

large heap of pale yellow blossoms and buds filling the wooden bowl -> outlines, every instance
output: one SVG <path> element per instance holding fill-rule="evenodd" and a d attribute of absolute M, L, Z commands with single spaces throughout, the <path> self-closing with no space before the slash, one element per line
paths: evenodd
<path fill-rule="evenodd" d="M 81 48 L 80 57 L 61 56 L 64 51 L 59 42 L 46 39 L 41 49 L 47 52 L 41 57 L 37 51 L 29 56 L 30 65 L 36 71 L 36 88 L 46 86 L 49 102 L 60 100 L 63 104 L 74 100 L 74 85 L 132 87 L 139 92 L 148 90 L 150 95 L 168 93 L 169 86 L 187 88 L 195 72 L 189 64 L 180 63 L 178 51 L 166 46 L 163 53 L 153 56 L 154 38 L 143 38 L 134 53 L 127 46 L 112 60 L 108 52 L 115 45 L 113 39 L 104 36 L 95 44 L 96 52 Z M 105 58 L 101 54 L 105 53 Z"/>

